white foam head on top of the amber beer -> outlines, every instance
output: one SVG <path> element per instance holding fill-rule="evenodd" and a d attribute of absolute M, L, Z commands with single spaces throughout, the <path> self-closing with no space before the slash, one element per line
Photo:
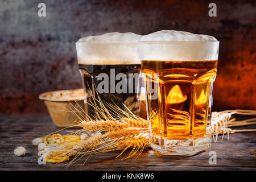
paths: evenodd
<path fill-rule="evenodd" d="M 218 41 L 213 36 L 162 30 L 141 38 L 142 60 L 199 61 L 218 59 Z"/>

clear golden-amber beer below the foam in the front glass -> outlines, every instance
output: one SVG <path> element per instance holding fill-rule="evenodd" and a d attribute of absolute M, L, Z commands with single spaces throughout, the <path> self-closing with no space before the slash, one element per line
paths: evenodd
<path fill-rule="evenodd" d="M 152 135 L 166 139 L 203 137 L 210 123 L 217 60 L 142 60 L 146 76 L 148 117 Z M 158 73 L 158 77 L 154 77 Z M 149 82 L 156 82 L 151 99 Z"/>

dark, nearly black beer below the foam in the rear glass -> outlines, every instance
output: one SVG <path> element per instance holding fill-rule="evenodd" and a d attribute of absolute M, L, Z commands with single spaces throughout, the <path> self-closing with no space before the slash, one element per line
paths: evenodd
<path fill-rule="evenodd" d="M 125 104 L 134 114 L 139 114 L 139 102 L 137 100 L 137 92 L 138 92 L 138 85 L 135 85 L 136 81 L 135 79 L 139 79 L 138 77 L 133 78 L 133 91 L 129 93 L 129 73 L 139 75 L 141 72 L 141 64 L 127 64 L 127 65 L 85 65 L 85 64 L 79 64 L 79 69 L 82 74 L 83 79 L 83 86 L 87 95 L 87 102 L 90 102 L 90 98 L 94 97 L 100 97 L 102 101 L 108 102 L 109 104 L 114 104 L 121 109 L 125 110 L 125 107 L 123 104 Z M 112 73 L 114 71 L 114 76 L 110 74 L 110 71 L 112 70 Z M 109 82 L 109 89 L 107 93 L 98 93 L 98 84 L 102 80 L 98 80 L 98 76 L 100 73 L 106 73 L 108 75 L 108 82 Z M 117 85 L 117 83 L 120 80 L 115 80 L 115 77 L 118 73 L 125 73 L 126 79 L 127 79 L 127 93 L 117 93 L 114 89 L 113 93 L 113 87 Z M 114 85 L 110 85 L 110 83 L 113 83 Z M 138 81 L 138 80 L 137 80 Z M 111 90 L 112 89 L 112 90 Z M 91 91 L 91 92 L 90 92 Z M 92 94 L 91 94 L 92 93 Z M 113 111 L 112 108 L 106 106 L 108 110 Z M 86 112 L 91 116 L 93 115 L 94 111 L 93 108 L 90 107 L 90 105 L 85 103 L 85 110 Z"/>

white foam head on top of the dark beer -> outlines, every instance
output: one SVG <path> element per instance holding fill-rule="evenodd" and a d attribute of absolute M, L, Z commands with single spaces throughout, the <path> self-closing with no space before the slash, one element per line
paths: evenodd
<path fill-rule="evenodd" d="M 79 64 L 141 64 L 138 42 L 142 35 L 111 32 L 81 38 L 76 43 Z"/>

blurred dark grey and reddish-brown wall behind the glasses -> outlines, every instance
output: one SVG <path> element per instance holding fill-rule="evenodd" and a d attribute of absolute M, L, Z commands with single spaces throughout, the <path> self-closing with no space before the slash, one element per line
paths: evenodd
<path fill-rule="evenodd" d="M 46 3 L 46 17 L 38 3 Z M 217 5 L 217 17 L 208 5 Z M 256 109 L 254 1 L 0 0 L 0 113 L 46 113 L 39 93 L 81 87 L 75 42 L 181 30 L 220 41 L 214 110 Z"/>

